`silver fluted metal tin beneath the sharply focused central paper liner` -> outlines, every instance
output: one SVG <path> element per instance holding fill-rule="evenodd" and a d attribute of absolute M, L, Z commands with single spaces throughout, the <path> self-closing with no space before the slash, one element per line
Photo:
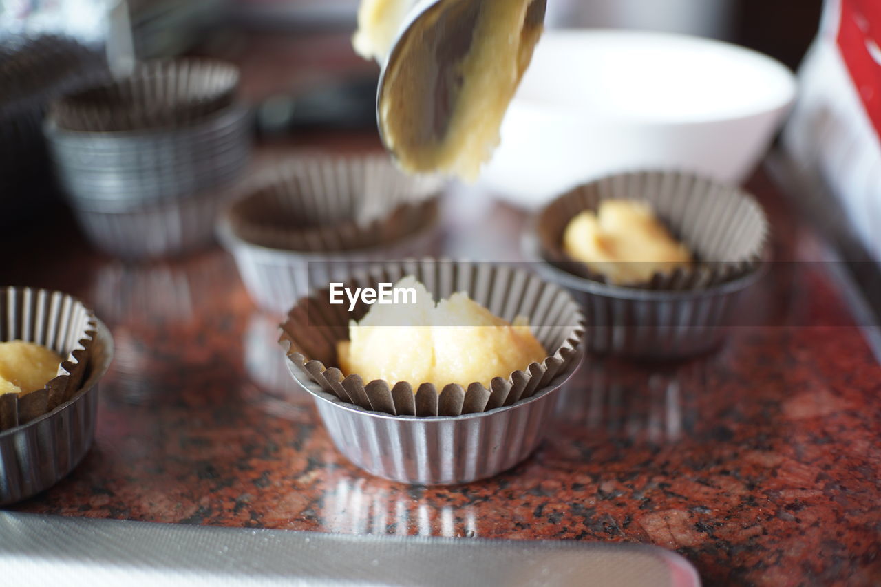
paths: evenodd
<path fill-rule="evenodd" d="M 312 394 L 324 427 L 343 455 L 366 472 L 413 485 L 470 483 L 507 471 L 544 438 L 559 389 L 581 356 L 544 390 L 516 404 L 462 416 L 369 412 L 323 391 L 292 361 L 294 379 Z"/>

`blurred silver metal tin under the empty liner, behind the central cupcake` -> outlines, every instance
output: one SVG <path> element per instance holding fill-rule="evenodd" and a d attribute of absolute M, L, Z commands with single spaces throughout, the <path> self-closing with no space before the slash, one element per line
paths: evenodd
<path fill-rule="evenodd" d="M 353 269 L 370 262 L 432 255 L 440 239 L 440 219 L 435 217 L 431 226 L 400 241 L 338 253 L 302 253 L 255 245 L 236 236 L 226 219 L 218 224 L 218 237 L 233 254 L 241 280 L 257 306 L 285 314 L 309 293 L 310 283 L 324 286 L 345 281 Z"/>

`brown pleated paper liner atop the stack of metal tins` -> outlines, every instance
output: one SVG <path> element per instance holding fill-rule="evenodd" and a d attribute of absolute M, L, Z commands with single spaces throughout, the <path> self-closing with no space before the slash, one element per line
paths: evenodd
<path fill-rule="evenodd" d="M 126 78 L 53 102 L 58 128 L 120 132 L 178 128 L 233 104 L 239 71 L 206 59 L 138 63 Z"/>

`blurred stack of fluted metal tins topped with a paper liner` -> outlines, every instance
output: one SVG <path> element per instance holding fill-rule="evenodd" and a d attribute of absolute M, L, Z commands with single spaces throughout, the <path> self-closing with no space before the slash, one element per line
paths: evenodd
<path fill-rule="evenodd" d="M 218 208 L 250 159 L 238 84 L 226 63 L 149 62 L 53 102 L 43 130 L 93 244 L 139 258 L 211 241 Z"/>

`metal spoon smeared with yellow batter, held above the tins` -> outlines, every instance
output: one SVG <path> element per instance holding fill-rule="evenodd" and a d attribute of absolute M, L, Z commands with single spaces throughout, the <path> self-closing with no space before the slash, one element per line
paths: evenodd
<path fill-rule="evenodd" d="M 424 0 L 416 4 L 404 19 L 382 66 L 376 93 L 380 137 L 393 156 L 397 157 L 396 146 L 390 145 L 382 120 L 383 108 L 389 100 L 390 80 L 405 77 L 403 86 L 413 90 L 406 98 L 411 105 L 409 112 L 416 113 L 415 120 L 406 125 L 409 136 L 396 137 L 398 147 L 419 149 L 438 143 L 447 133 L 455 109 L 455 96 L 463 85 L 456 66 L 469 52 L 484 2 Z M 529 4 L 522 36 L 543 25 L 545 5 L 546 0 L 533 0 Z M 408 42 L 413 35 L 418 35 L 416 44 Z"/>

